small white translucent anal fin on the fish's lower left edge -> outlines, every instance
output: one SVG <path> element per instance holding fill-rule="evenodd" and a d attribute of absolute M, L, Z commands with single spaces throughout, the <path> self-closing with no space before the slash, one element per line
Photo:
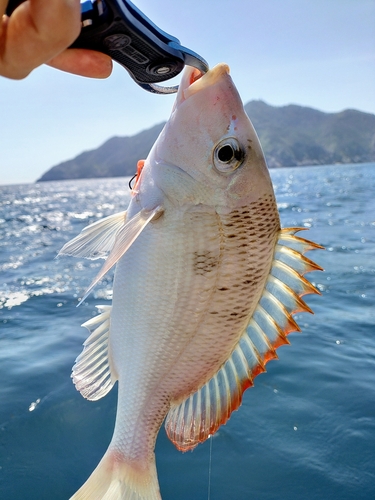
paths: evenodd
<path fill-rule="evenodd" d="M 72 370 L 76 389 L 90 401 L 105 396 L 117 380 L 108 351 L 111 306 L 96 307 L 100 314 L 82 325 L 90 335 Z"/>

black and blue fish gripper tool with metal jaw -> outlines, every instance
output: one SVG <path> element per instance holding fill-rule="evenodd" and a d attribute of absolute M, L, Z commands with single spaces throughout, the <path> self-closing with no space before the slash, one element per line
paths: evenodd
<path fill-rule="evenodd" d="M 6 14 L 23 0 L 10 0 Z M 81 2 L 81 33 L 72 48 L 103 52 L 123 66 L 144 90 L 156 94 L 177 92 L 178 85 L 160 82 L 177 76 L 187 64 L 208 71 L 207 62 L 161 30 L 129 0 Z"/>

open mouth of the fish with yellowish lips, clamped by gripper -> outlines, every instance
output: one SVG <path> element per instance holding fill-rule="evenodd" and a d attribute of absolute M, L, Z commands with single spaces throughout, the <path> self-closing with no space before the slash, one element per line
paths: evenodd
<path fill-rule="evenodd" d="M 192 95 L 214 85 L 223 77 L 228 76 L 229 71 L 229 66 L 225 63 L 217 64 L 208 70 L 207 73 L 203 73 L 197 68 L 186 66 L 178 89 L 177 103 L 181 104 Z"/>

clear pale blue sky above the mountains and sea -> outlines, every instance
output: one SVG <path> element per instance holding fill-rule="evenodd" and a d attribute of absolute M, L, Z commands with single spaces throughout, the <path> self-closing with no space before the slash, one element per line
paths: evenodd
<path fill-rule="evenodd" d="M 375 0 L 133 3 L 210 66 L 228 63 L 244 103 L 375 113 Z M 110 137 L 160 123 L 173 101 L 117 64 L 106 80 L 47 66 L 22 81 L 0 77 L 0 184 L 34 182 Z"/>

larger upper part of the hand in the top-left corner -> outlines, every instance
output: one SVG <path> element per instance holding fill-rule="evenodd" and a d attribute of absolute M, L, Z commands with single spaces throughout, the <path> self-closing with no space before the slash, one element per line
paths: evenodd
<path fill-rule="evenodd" d="M 0 0 L 4 12 L 7 2 Z M 79 0 L 27 0 L 0 24 L 0 74 L 20 79 L 78 37 Z"/>

